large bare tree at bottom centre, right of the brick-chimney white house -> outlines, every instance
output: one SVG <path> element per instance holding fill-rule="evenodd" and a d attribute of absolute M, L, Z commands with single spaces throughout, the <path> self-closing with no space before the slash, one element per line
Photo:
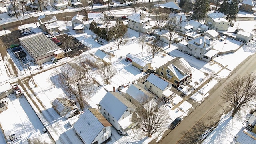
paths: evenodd
<path fill-rule="evenodd" d="M 154 98 L 140 97 L 140 104 L 132 116 L 132 122 L 138 123 L 148 137 L 166 127 L 168 120 L 168 110 L 161 107 L 161 104 L 156 102 Z"/>

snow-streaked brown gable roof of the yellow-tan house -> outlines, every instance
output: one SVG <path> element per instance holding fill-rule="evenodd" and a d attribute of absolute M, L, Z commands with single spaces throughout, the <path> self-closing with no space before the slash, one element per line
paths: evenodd
<path fill-rule="evenodd" d="M 192 67 L 188 64 L 188 62 L 186 62 L 184 58 L 178 57 L 173 58 L 171 61 L 160 66 L 160 68 L 166 66 L 179 80 L 182 80 L 182 78 L 186 77 L 188 74 L 191 74 L 193 70 Z"/>

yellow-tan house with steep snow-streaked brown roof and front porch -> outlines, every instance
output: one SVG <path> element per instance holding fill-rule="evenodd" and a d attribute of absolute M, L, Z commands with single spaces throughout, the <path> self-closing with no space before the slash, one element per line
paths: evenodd
<path fill-rule="evenodd" d="M 185 80 L 192 77 L 193 68 L 184 58 L 173 58 L 166 64 L 156 68 L 159 76 L 172 83 L 172 86 L 178 88 Z"/>

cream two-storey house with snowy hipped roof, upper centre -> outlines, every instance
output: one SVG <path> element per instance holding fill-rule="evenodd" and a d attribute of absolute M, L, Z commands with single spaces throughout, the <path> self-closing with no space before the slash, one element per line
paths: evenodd
<path fill-rule="evenodd" d="M 137 32 L 142 32 L 146 34 L 147 32 L 150 32 L 153 28 L 153 26 L 149 24 L 151 18 L 146 17 L 145 14 L 134 13 L 131 16 L 128 16 L 127 18 L 128 28 L 135 30 Z"/>

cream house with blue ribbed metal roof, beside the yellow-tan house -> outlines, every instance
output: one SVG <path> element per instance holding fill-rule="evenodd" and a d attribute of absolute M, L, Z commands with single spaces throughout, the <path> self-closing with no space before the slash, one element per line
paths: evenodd
<path fill-rule="evenodd" d="M 137 84 L 141 88 L 145 88 L 146 90 L 152 92 L 159 98 L 163 97 L 163 92 L 165 90 L 172 87 L 172 82 L 155 73 L 146 74 L 142 78 L 138 78 Z"/>

